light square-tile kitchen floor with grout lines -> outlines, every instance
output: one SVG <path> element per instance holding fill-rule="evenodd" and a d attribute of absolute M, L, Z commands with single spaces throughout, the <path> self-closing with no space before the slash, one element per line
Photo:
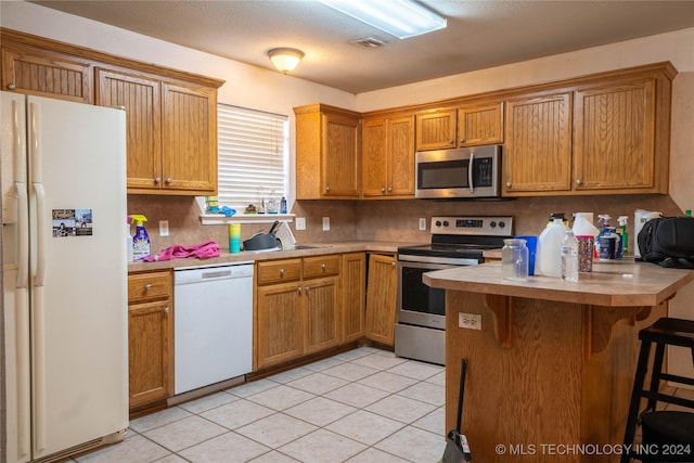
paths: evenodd
<path fill-rule="evenodd" d="M 444 366 L 362 347 L 130 422 L 99 463 L 435 463 Z"/>

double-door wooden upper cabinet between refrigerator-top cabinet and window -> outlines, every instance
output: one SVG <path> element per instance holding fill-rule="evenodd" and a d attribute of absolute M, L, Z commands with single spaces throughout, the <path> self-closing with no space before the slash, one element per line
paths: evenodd
<path fill-rule="evenodd" d="M 217 91 L 97 68 L 97 104 L 126 110 L 128 193 L 217 191 Z"/>

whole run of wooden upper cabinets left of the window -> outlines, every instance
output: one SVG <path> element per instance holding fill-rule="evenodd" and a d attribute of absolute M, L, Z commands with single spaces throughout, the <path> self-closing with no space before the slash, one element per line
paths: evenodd
<path fill-rule="evenodd" d="M 0 28 L 2 89 L 123 106 L 128 193 L 217 192 L 223 81 Z"/>

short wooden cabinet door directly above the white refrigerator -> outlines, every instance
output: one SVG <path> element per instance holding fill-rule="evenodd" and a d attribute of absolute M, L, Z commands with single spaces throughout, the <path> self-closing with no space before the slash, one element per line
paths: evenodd
<path fill-rule="evenodd" d="M 13 43 L 2 44 L 2 90 L 93 102 L 89 61 Z"/>

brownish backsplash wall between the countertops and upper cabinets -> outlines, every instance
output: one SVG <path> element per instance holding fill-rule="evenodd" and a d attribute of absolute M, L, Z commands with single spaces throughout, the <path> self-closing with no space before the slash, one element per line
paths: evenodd
<path fill-rule="evenodd" d="M 633 246 L 633 213 L 635 209 L 659 210 L 664 215 L 680 215 L 682 210 L 668 195 L 595 195 L 520 197 L 507 201 L 297 201 L 291 213 L 306 218 L 306 230 L 297 231 L 291 223 L 298 243 L 330 243 L 345 241 L 428 242 L 433 216 L 513 216 L 516 234 L 539 234 L 551 213 L 608 214 L 616 224 L 618 216 L 629 217 L 630 246 Z M 190 196 L 128 195 L 128 214 L 143 214 L 152 241 L 152 252 L 174 244 L 191 245 L 216 241 L 222 252 L 229 250 L 227 227 L 202 226 L 200 207 Z M 330 230 L 323 231 L 323 217 L 330 218 Z M 424 217 L 426 231 L 419 230 Z M 169 221 L 169 236 L 159 236 L 159 220 Z M 270 224 L 242 226 L 242 240 Z M 133 230 L 134 231 L 134 228 Z M 633 247 L 631 247 L 633 248 Z"/>

